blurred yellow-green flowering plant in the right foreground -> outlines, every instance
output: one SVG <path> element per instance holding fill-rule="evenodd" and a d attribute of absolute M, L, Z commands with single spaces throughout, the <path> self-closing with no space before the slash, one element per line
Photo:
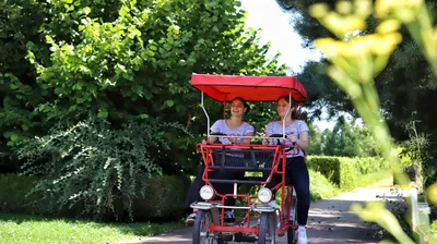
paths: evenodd
<path fill-rule="evenodd" d="M 390 59 L 391 53 L 402 41 L 401 25 L 404 24 L 412 37 L 422 48 L 430 66 L 437 68 L 435 50 L 435 29 L 424 1 L 338 1 L 335 10 L 328 4 L 310 7 L 309 14 L 317 19 L 333 37 L 316 40 L 316 46 L 329 59 L 328 75 L 351 97 L 352 103 L 381 149 L 395 179 L 402 184 L 408 179 L 401 173 L 400 160 L 394 152 L 392 137 L 380 113 L 380 100 L 375 86 L 377 76 Z M 370 13 L 379 23 L 373 33 L 366 33 Z M 437 69 L 434 69 L 437 73 Z M 432 81 L 427 81 L 428 85 Z M 385 208 L 383 203 L 368 203 L 366 208 L 353 205 L 352 210 L 365 221 L 373 221 L 388 230 L 401 243 L 414 243 L 403 231 L 395 217 Z M 421 220 L 418 220 L 421 222 Z M 417 241 L 430 241 L 429 227 L 416 227 L 413 231 Z"/>

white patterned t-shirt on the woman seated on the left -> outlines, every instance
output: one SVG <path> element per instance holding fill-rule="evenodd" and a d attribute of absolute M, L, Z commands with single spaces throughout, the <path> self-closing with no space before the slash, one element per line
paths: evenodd
<path fill-rule="evenodd" d="M 246 136 L 249 133 L 253 133 L 255 129 L 252 125 L 249 123 L 243 122 L 243 124 L 239 127 L 236 129 L 229 129 L 226 124 L 225 120 L 217 120 L 215 123 L 211 126 L 211 133 L 223 133 L 225 135 L 229 136 Z M 232 144 L 228 138 L 218 138 L 218 141 L 222 144 Z M 244 137 L 237 137 L 238 143 L 243 143 L 245 141 Z"/>

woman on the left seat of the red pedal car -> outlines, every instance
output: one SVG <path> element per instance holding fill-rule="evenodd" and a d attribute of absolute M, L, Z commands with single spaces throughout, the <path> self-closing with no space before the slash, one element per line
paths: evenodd
<path fill-rule="evenodd" d="M 255 129 L 252 125 L 249 123 L 246 123 L 244 121 L 244 115 L 249 112 L 250 107 L 247 105 L 246 100 L 243 99 L 241 97 L 236 97 L 232 100 L 231 102 L 231 118 L 225 119 L 225 120 L 217 120 L 212 126 L 211 126 L 211 134 L 224 134 L 228 136 L 252 136 Z M 222 144 L 250 144 L 250 138 L 246 137 L 217 137 L 214 135 L 210 135 L 209 139 L 210 143 L 216 142 L 218 138 L 218 142 Z M 228 158 L 238 158 L 239 155 L 231 155 Z M 204 171 L 204 167 L 202 167 L 198 175 L 196 176 L 194 181 L 192 182 L 188 193 L 187 193 L 187 198 L 185 202 L 185 208 L 188 209 L 190 205 L 199 199 L 199 191 L 203 185 L 202 182 L 202 174 Z M 213 175 L 215 173 L 215 175 Z M 244 172 L 226 172 L 226 173 L 220 173 L 220 172 L 213 172 L 210 173 L 210 176 L 213 178 L 218 178 L 218 179 L 240 179 L 244 176 Z M 233 192 L 233 185 L 232 184 L 214 184 L 214 187 L 217 192 L 221 194 L 227 194 Z M 226 205 L 233 206 L 235 205 L 235 199 L 232 197 L 226 198 Z M 194 223 L 196 219 L 196 210 L 193 213 L 189 215 L 187 218 L 187 224 L 192 224 Z M 226 222 L 233 222 L 235 221 L 235 217 L 232 211 L 226 211 L 225 215 L 225 221 Z"/>

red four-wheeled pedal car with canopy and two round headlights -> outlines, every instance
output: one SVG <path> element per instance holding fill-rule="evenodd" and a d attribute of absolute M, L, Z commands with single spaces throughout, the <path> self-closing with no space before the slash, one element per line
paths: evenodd
<path fill-rule="evenodd" d="M 247 101 L 275 101 L 279 97 L 287 96 L 290 105 L 292 105 L 292 99 L 296 102 L 303 102 L 306 99 L 304 86 L 291 76 L 192 74 L 191 85 L 201 91 L 201 107 L 208 120 L 208 137 L 211 135 L 211 124 L 204 107 L 204 95 L 222 102 L 232 101 L 236 97 L 243 97 Z M 290 110 L 291 106 L 286 114 Z M 252 138 L 253 136 L 249 137 Z M 281 139 L 282 142 L 285 141 L 284 123 Z M 297 229 L 296 195 L 293 186 L 286 184 L 286 155 L 291 152 L 287 152 L 288 147 L 283 145 L 222 145 L 209 142 L 197 145 L 197 150 L 201 154 L 205 167 L 202 175 L 205 186 L 202 187 L 200 194 L 202 197 L 206 197 L 203 198 L 204 202 L 191 204 L 191 208 L 199 209 L 193 227 L 193 243 L 201 243 L 202 239 L 206 243 L 213 241 L 217 243 L 228 241 L 274 243 L 275 234 L 284 235 L 285 233 L 287 233 L 288 243 L 295 242 L 295 230 Z M 212 176 L 212 172 L 227 171 L 261 172 L 262 176 L 245 178 L 244 180 L 214 179 Z M 280 179 L 280 182 L 274 182 L 273 186 L 271 185 L 268 190 L 265 185 L 271 183 L 273 178 L 276 181 Z M 215 191 L 214 184 L 233 184 L 234 192 L 232 194 L 218 193 Z M 238 186 L 241 184 L 260 185 L 261 190 L 258 195 L 240 194 Z M 270 206 L 268 203 L 262 203 L 259 196 L 261 191 L 263 191 L 262 194 L 265 197 L 273 190 L 281 190 L 282 204 L 280 209 Z M 212 196 L 211 192 L 213 192 Z M 247 204 L 246 206 L 226 206 L 225 199 L 228 197 L 241 198 Z M 274 196 L 271 197 L 274 199 Z M 236 224 L 226 224 L 224 222 L 225 209 L 245 210 L 246 217 Z M 259 223 L 250 221 L 250 213 L 253 211 L 260 213 Z"/>

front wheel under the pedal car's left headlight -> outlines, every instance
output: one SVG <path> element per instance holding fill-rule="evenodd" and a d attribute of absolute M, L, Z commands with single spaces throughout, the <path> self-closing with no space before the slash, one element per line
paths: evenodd
<path fill-rule="evenodd" d="M 210 236 L 210 224 L 213 223 L 210 210 L 199 210 L 192 227 L 193 244 L 214 244 L 214 237 Z"/>

